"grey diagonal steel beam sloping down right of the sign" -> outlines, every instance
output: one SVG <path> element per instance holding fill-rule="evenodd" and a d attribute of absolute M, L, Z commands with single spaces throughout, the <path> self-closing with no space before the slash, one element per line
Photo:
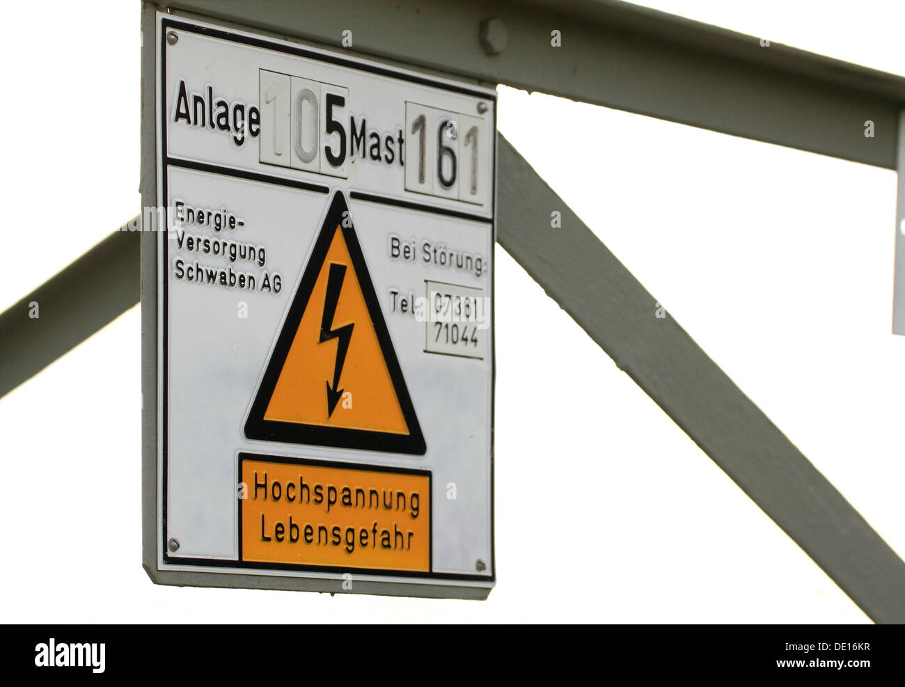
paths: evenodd
<path fill-rule="evenodd" d="M 864 613 L 905 623 L 905 563 L 678 322 L 655 317 L 654 297 L 498 140 L 500 245 Z"/>

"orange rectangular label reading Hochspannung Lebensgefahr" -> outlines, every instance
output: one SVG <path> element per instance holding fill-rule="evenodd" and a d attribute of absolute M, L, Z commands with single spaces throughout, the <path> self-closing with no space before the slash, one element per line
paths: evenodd
<path fill-rule="evenodd" d="M 431 570 L 431 476 L 239 455 L 240 559 Z"/>

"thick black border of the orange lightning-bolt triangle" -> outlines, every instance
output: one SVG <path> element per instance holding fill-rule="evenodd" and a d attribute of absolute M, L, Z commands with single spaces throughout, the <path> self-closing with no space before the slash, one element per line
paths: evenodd
<path fill-rule="evenodd" d="M 330 199 L 327 215 L 320 225 L 318 237 L 308 259 L 308 264 L 305 265 L 305 271 L 302 274 L 299 287 L 296 289 L 295 295 L 292 296 L 289 312 L 283 319 L 280 335 L 267 361 L 267 366 L 264 368 L 261 384 L 255 392 L 254 402 L 245 419 L 243 433 L 246 439 L 281 442 L 283 444 L 312 444 L 332 448 L 379 451 L 381 453 L 424 455 L 427 451 L 427 446 L 424 443 L 424 434 L 421 432 L 421 425 L 418 423 L 418 417 L 414 412 L 412 398 L 408 394 L 408 386 L 405 385 L 402 368 L 399 367 L 399 360 L 396 358 L 393 340 L 390 338 L 389 330 L 386 329 L 386 321 L 384 320 L 383 311 L 380 309 L 380 301 L 377 299 L 374 284 L 371 282 L 365 255 L 362 253 L 361 245 L 358 243 L 351 213 L 348 215 L 348 226 L 343 224 L 343 214 L 346 212 L 348 212 L 346 196 L 343 195 L 342 191 L 337 190 Z M 314 285 L 318 281 L 320 269 L 327 258 L 327 252 L 335 234 L 333 227 L 337 225 L 346 240 L 348 254 L 352 259 L 352 266 L 355 268 L 358 284 L 365 298 L 367 312 L 374 323 L 377 342 L 380 344 L 380 349 L 384 354 L 386 368 L 393 382 L 396 398 L 402 408 L 409 434 L 392 434 L 372 430 L 350 429 L 348 427 L 302 425 L 264 419 L 264 413 L 270 404 L 283 363 L 289 355 L 292 340 L 295 339 L 295 333 L 299 329 L 302 315 L 308 307 L 311 292 L 314 291 Z"/>

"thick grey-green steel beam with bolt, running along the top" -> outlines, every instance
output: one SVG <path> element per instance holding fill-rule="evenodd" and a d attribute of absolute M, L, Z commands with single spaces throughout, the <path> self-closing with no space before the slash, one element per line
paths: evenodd
<path fill-rule="evenodd" d="M 279 36 L 895 168 L 905 79 L 612 0 L 161 0 Z M 499 54 L 479 27 L 503 20 Z M 561 47 L 550 33 L 561 33 Z M 769 36 L 765 36 L 769 38 Z M 498 41 L 497 43 L 500 43 Z M 874 123 L 865 138 L 864 122 Z M 560 122 L 569 129 L 567 121 Z M 554 136 L 538 128 L 538 136 Z M 581 145 L 576 132 L 570 145 Z"/>

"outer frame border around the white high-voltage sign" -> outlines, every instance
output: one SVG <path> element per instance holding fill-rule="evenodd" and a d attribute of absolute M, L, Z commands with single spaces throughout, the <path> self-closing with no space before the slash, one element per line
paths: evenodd
<path fill-rule="evenodd" d="M 198 23 L 214 24 L 217 29 Z M 159 33 L 158 33 L 159 27 Z M 260 29 L 238 26 L 230 22 L 205 17 L 192 13 L 175 13 L 170 11 L 163 13 L 155 5 L 144 4 L 141 10 L 141 182 L 140 192 L 142 205 L 145 208 L 157 207 L 158 177 L 165 173 L 164 169 L 157 167 L 158 144 L 157 137 L 158 119 L 161 111 L 157 102 L 157 65 L 158 53 L 161 65 L 164 63 L 163 54 L 166 53 L 166 35 L 168 27 L 176 27 L 181 30 L 195 33 L 214 35 L 214 37 L 233 40 L 239 43 L 256 45 L 267 50 L 277 50 L 297 54 L 301 57 L 317 59 L 327 62 L 335 62 L 341 66 L 370 71 L 397 79 L 405 79 L 441 88 L 447 91 L 458 91 L 484 100 L 492 100 L 493 108 L 493 134 L 496 136 L 497 125 L 497 94 L 478 81 L 459 77 L 459 81 L 449 81 L 441 75 L 426 73 L 414 65 L 397 65 L 391 62 L 378 62 L 372 56 L 358 56 L 351 58 L 341 56 L 335 49 L 329 46 L 320 46 L 315 43 L 305 42 L 297 37 L 277 36 L 263 32 Z M 161 76 L 161 86 L 165 81 Z M 473 89 L 465 83 L 474 84 Z M 166 93 L 160 94 L 166 101 Z M 163 134 L 165 136 L 165 133 Z M 165 152 L 161 155 L 165 156 Z M 497 160 L 499 156 L 498 146 L 494 141 L 491 180 L 491 246 L 496 245 L 496 205 L 497 205 Z M 166 164 L 164 165 L 166 167 Z M 402 204 L 400 204 L 402 205 Z M 414 204 L 412 204 L 414 205 Z M 166 208 L 163 210 L 166 213 Z M 455 214 L 454 211 L 447 211 Z M 147 220 L 148 213 L 143 213 Z M 466 215 L 462 213 L 462 215 Z M 161 218 L 157 218 L 161 219 Z M 166 217 L 162 218 L 166 225 Z M 147 223 L 151 224 L 151 223 Z M 197 561 L 187 558 L 167 557 L 166 542 L 166 511 L 158 511 L 158 494 L 162 485 L 158 483 L 159 463 L 158 446 L 163 445 L 163 460 L 166 462 L 166 443 L 162 427 L 159 426 L 159 418 L 164 409 L 166 399 L 159 394 L 159 376 L 161 374 L 162 360 L 161 348 L 165 346 L 161 338 L 158 326 L 159 289 L 157 279 L 160 276 L 161 265 L 158 263 L 158 227 L 156 225 L 144 225 L 141 233 L 141 366 L 142 366 L 142 563 L 148 577 L 155 584 L 174 585 L 180 587 L 226 587 L 226 588 L 256 588 L 279 589 L 295 591 L 318 592 L 342 592 L 357 594 L 377 594 L 388 596 L 421 596 L 433 598 L 463 598 L 485 599 L 496 584 L 496 546 L 495 546 L 495 470 L 494 470 L 494 437 L 495 422 L 494 408 L 496 402 L 496 337 L 495 320 L 496 313 L 491 312 L 491 441 L 490 441 L 490 516 L 491 516 L 491 574 L 490 575 L 456 575 L 452 573 L 421 573 L 404 575 L 386 575 L 379 571 L 364 572 L 359 570 L 355 585 L 351 590 L 343 590 L 341 587 L 342 575 L 347 572 L 344 568 L 331 568 L 318 571 L 317 577 L 288 577 L 280 575 L 268 575 L 261 564 L 243 566 L 242 561 L 226 561 L 216 566 L 213 561 L 204 559 L 205 565 L 197 566 Z M 492 253 L 492 251 L 491 251 Z M 492 260 L 491 254 L 491 260 Z M 495 261 L 493 261 L 495 264 Z M 495 271 L 491 272 L 491 299 L 495 303 Z M 166 283 L 166 282 L 164 282 Z M 243 418 L 244 419 L 244 418 Z M 274 447 L 276 449 L 276 447 Z M 238 449 L 238 453 L 254 453 Z M 270 454 L 270 453 L 268 453 Z M 284 456 L 285 458 L 285 456 Z M 308 460 L 299 459 L 296 460 Z M 340 462 L 335 462 L 340 464 Z M 433 494 L 432 494 L 433 511 Z M 431 521 L 431 539 L 433 542 L 433 515 Z M 163 550 L 160 550 L 163 548 Z M 167 560 L 169 558 L 169 560 Z M 433 560 L 433 546 L 431 551 Z M 172 563 L 170 562 L 172 561 Z M 173 568 L 160 568 L 160 565 L 172 565 Z M 222 566 L 222 567 L 221 567 Z M 213 570 L 210 568 L 214 568 Z M 292 566 L 298 569 L 299 566 Z M 216 570 L 216 571 L 214 571 Z M 247 570 L 247 572 L 246 572 Z"/>

